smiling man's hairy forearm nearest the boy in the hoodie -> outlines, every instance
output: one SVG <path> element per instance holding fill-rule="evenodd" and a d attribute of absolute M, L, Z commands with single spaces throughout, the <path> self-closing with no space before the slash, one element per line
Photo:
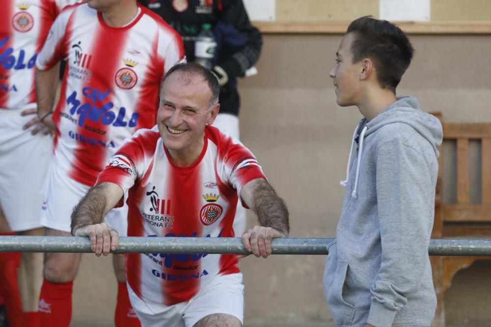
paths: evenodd
<path fill-rule="evenodd" d="M 276 195 L 267 182 L 260 185 L 254 193 L 254 211 L 261 226 L 273 227 L 288 236 L 290 225 L 285 201 Z"/>

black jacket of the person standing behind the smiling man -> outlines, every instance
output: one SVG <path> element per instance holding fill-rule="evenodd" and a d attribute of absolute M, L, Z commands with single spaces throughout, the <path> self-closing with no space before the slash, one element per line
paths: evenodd
<path fill-rule="evenodd" d="M 237 77 L 244 76 L 261 52 L 263 40 L 250 24 L 242 0 L 138 0 L 181 34 L 188 61 L 194 61 L 194 41 L 203 24 L 213 26 L 217 41 L 214 64 L 228 75 L 220 89 L 220 113 L 238 115 Z"/>

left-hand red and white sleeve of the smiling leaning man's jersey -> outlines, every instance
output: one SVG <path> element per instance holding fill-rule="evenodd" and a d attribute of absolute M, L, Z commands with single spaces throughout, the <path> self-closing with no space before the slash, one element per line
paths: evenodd
<path fill-rule="evenodd" d="M 128 199 L 128 190 L 143 173 L 143 149 L 136 138 L 126 139 L 119 150 L 109 159 L 106 168 L 99 173 L 96 185 L 114 183 L 123 189 L 124 198 L 115 207 L 123 206 Z"/>

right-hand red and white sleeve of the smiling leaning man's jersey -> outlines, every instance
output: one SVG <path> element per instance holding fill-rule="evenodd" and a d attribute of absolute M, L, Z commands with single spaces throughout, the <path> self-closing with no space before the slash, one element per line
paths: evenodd
<path fill-rule="evenodd" d="M 256 178 L 266 179 L 266 176 L 249 149 L 233 137 L 226 139 L 225 148 L 219 151 L 217 168 L 222 181 L 227 181 L 231 187 L 236 189 L 240 198 L 244 185 Z"/>

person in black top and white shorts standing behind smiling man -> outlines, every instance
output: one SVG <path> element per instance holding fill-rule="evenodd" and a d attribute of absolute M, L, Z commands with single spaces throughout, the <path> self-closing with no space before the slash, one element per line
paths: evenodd
<path fill-rule="evenodd" d="M 210 69 L 220 84 L 220 111 L 213 126 L 237 139 L 240 97 L 237 77 L 257 73 L 263 40 L 242 0 L 138 0 L 181 34 L 189 62 Z M 246 229 L 246 209 L 237 207 L 234 232 Z"/>

